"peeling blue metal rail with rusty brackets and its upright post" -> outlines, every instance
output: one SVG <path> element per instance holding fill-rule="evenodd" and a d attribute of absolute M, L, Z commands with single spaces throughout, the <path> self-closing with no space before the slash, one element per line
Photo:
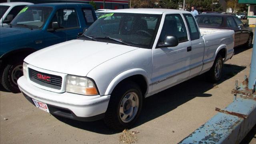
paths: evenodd
<path fill-rule="evenodd" d="M 256 28 L 255 28 L 256 30 Z M 256 31 L 255 31 L 256 32 Z M 250 77 L 232 90 L 234 101 L 218 111 L 179 144 L 239 144 L 256 124 L 256 34 L 252 51 Z"/>

